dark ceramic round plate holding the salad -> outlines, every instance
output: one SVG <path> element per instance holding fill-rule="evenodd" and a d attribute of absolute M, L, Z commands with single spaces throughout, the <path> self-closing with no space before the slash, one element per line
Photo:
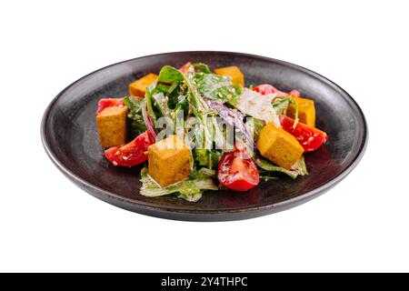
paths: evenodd
<path fill-rule="evenodd" d="M 197 203 L 174 196 L 139 194 L 140 167 L 109 164 L 98 143 L 95 108 L 103 97 L 127 95 L 128 84 L 163 65 L 187 61 L 212 68 L 238 65 L 245 84 L 270 83 L 283 91 L 297 89 L 315 100 L 317 127 L 330 137 L 306 154 L 309 176 L 261 182 L 246 193 L 210 191 Z M 339 183 L 364 155 L 367 127 L 354 99 L 333 82 L 301 66 L 257 56 L 227 52 L 179 52 L 148 55 L 109 65 L 79 79 L 55 97 L 45 110 L 41 128 L 48 156 L 77 186 L 112 205 L 137 213 L 179 220 L 220 221 L 264 216 L 298 206 Z"/>

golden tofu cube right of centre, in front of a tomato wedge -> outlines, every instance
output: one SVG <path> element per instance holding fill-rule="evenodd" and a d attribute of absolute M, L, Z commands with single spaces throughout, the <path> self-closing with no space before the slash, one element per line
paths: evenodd
<path fill-rule="evenodd" d="M 265 125 L 257 140 L 257 148 L 262 156 L 277 166 L 289 170 L 303 155 L 304 148 L 293 135 L 273 123 Z"/>

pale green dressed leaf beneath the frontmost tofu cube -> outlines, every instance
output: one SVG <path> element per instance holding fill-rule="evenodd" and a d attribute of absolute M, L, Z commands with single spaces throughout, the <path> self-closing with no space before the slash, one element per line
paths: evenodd
<path fill-rule="evenodd" d="M 187 179 L 174 185 L 160 187 L 147 175 L 147 168 L 144 167 L 141 171 L 141 182 L 141 195 L 143 196 L 156 197 L 176 194 L 179 198 L 190 202 L 199 200 L 205 190 L 218 189 L 217 186 L 214 185 L 213 179 L 209 176 L 208 169 L 200 169 L 192 173 Z"/>

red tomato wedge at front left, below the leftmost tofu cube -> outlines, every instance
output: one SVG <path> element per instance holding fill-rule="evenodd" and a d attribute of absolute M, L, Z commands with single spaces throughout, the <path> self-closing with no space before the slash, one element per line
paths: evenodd
<path fill-rule="evenodd" d="M 155 139 L 145 131 L 125 146 L 108 148 L 105 157 L 115 166 L 136 166 L 147 160 L 147 148 L 154 143 Z"/>

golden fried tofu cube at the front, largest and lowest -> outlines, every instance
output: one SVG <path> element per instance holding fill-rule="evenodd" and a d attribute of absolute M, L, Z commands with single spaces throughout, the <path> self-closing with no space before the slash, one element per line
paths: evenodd
<path fill-rule="evenodd" d="M 185 142 L 171 135 L 148 147 L 148 174 L 165 187 L 190 175 L 191 156 Z"/>

